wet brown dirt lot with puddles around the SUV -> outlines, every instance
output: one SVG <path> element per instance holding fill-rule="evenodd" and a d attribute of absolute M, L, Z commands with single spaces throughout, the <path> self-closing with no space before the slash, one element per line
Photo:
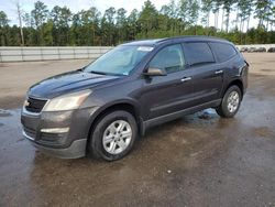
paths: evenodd
<path fill-rule="evenodd" d="M 35 81 L 87 61 L 0 65 L 0 206 L 275 206 L 275 54 L 245 54 L 250 88 L 234 119 L 213 110 L 146 133 L 108 163 L 58 160 L 21 135 Z"/>

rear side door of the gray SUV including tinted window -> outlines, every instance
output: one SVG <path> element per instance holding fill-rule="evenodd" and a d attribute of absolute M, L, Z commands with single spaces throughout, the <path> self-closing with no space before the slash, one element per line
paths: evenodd
<path fill-rule="evenodd" d="M 207 42 L 184 43 L 184 53 L 193 70 L 194 106 L 219 98 L 223 70 L 219 68 Z"/>

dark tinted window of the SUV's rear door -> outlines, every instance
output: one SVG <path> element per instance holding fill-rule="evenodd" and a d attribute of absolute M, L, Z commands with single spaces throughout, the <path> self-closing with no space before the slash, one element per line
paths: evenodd
<path fill-rule="evenodd" d="M 215 63 L 213 54 L 207 43 L 185 43 L 184 51 L 189 65 Z"/>

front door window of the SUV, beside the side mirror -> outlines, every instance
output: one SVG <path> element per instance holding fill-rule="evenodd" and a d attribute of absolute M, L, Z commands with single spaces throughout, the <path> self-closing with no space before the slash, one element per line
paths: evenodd
<path fill-rule="evenodd" d="M 185 59 L 180 44 L 166 46 L 150 62 L 150 67 L 163 68 L 166 73 L 184 69 Z"/>

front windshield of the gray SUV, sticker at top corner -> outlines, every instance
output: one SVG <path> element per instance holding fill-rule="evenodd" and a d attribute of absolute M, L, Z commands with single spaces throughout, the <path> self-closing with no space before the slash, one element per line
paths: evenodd
<path fill-rule="evenodd" d="M 129 75 L 152 46 L 117 46 L 85 68 L 85 72 L 103 75 Z"/>

